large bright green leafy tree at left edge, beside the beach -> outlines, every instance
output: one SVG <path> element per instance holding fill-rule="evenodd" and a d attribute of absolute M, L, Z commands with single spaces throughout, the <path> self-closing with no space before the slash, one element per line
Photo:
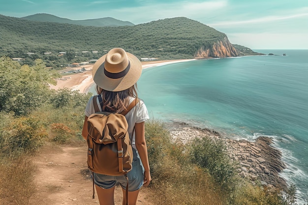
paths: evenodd
<path fill-rule="evenodd" d="M 20 66 L 10 58 L 0 58 L 0 111 L 27 115 L 46 101 L 48 84 L 56 83 L 56 75 L 45 68 L 41 59 L 34 64 Z"/>

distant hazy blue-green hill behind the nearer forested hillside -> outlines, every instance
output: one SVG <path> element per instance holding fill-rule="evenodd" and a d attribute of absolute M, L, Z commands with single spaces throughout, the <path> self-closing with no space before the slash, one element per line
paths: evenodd
<path fill-rule="evenodd" d="M 87 20 L 70 20 L 60 18 L 51 14 L 34 14 L 26 17 L 22 17 L 23 20 L 30 20 L 36 22 L 52 22 L 61 24 L 74 24 L 81 26 L 93 26 L 93 27 L 120 27 L 120 26 L 134 26 L 133 23 L 128 21 L 120 21 L 111 17 L 100 19 L 87 19 Z"/>

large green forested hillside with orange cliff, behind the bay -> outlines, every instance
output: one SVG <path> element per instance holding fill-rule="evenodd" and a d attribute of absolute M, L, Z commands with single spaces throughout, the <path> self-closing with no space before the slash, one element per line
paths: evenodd
<path fill-rule="evenodd" d="M 122 47 L 138 58 L 239 56 L 224 33 L 185 17 L 135 26 L 90 27 L 34 22 L 0 15 L 0 27 L 0 56 L 27 58 L 26 53 L 33 52 L 32 59 L 42 58 L 50 64 L 57 61 L 59 52 L 66 52 L 66 60 L 72 62 L 97 59 L 105 54 L 104 51 L 114 47 Z M 92 54 L 92 51 L 97 53 Z M 44 52 L 52 54 L 47 58 Z M 65 64 L 66 60 L 62 59 L 61 63 Z"/>

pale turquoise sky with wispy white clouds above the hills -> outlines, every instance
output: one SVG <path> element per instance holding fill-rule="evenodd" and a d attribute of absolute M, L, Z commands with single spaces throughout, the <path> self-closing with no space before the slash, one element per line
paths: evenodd
<path fill-rule="evenodd" d="M 187 17 L 251 49 L 308 49 L 308 0 L 0 0 L 0 14 L 48 13 L 133 24 Z"/>

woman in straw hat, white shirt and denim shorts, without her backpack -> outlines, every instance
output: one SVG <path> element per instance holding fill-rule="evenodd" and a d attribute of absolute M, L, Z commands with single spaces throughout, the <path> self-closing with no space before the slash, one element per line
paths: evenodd
<path fill-rule="evenodd" d="M 96 92 L 101 95 L 102 104 L 97 104 L 101 111 L 122 112 L 137 98 L 136 83 L 141 76 L 142 65 L 134 55 L 121 48 L 111 49 L 98 59 L 92 68 L 92 77 Z M 93 97 L 90 98 L 86 111 L 82 136 L 87 139 L 87 119 L 95 113 Z M 131 109 L 125 118 L 128 122 L 128 133 L 133 147 L 132 170 L 128 172 L 128 204 L 135 205 L 141 186 L 148 186 L 152 180 L 145 140 L 145 120 L 149 119 L 147 108 L 142 100 Z M 124 176 L 107 176 L 93 173 L 94 183 L 100 205 L 114 205 L 116 181 L 123 189 L 125 205 L 126 178 Z"/>

